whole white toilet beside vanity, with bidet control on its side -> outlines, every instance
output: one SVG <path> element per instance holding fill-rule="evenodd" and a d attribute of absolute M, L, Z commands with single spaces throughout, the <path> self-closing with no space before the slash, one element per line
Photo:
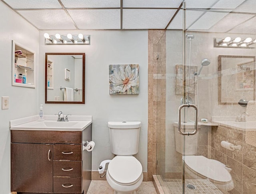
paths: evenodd
<path fill-rule="evenodd" d="M 107 163 L 106 179 L 114 194 L 135 194 L 143 180 L 142 165 L 132 155 L 138 153 L 140 122 L 108 122 L 111 152 L 116 156 L 104 160 L 99 173 L 104 172 Z"/>

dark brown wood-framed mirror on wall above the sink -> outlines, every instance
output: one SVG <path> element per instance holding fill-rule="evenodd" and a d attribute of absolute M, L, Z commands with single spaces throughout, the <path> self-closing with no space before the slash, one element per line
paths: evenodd
<path fill-rule="evenodd" d="M 85 53 L 45 53 L 45 103 L 84 104 Z"/>

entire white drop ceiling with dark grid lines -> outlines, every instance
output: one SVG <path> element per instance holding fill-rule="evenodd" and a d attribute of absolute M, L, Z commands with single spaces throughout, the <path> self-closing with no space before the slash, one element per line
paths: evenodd
<path fill-rule="evenodd" d="M 165 29 L 182 3 L 182 0 L 1 1 L 8 4 L 38 30 Z M 206 32 L 231 30 L 230 32 L 234 33 L 246 31 L 256 34 L 254 24 L 247 22 L 256 15 L 255 0 L 186 0 L 185 2 L 186 26 L 189 30 Z M 241 14 L 241 17 L 235 19 L 236 16 L 232 15 L 234 11 L 239 12 L 236 15 Z M 168 29 L 182 29 L 182 23 L 181 10 Z"/>

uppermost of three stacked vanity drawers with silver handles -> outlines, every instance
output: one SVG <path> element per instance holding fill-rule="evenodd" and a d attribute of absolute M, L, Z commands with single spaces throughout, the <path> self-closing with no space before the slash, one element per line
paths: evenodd
<path fill-rule="evenodd" d="M 55 144 L 54 160 L 82 161 L 82 145 Z"/>

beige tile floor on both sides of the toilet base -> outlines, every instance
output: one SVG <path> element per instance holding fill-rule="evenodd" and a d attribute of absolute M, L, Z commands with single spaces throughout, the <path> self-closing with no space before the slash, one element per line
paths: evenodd
<path fill-rule="evenodd" d="M 114 194 L 114 190 L 106 180 L 92 180 L 87 194 Z M 156 194 L 153 182 L 142 182 L 136 194 Z"/>

